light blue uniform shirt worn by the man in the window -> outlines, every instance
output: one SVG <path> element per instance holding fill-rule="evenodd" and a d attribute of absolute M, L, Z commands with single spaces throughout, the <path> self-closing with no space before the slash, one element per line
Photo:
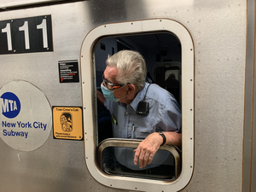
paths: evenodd
<path fill-rule="evenodd" d="M 105 100 L 104 105 L 112 114 L 113 122 L 115 122 L 112 123 L 113 137 L 144 139 L 155 131 L 181 132 L 181 110 L 172 94 L 157 84 L 150 85 L 145 98 L 145 102 L 149 103 L 148 116 L 137 115 L 137 105 L 143 101 L 148 85 L 148 83 L 145 84 L 143 90 L 137 93 L 130 105 L 126 106 L 124 103 Z M 151 167 L 154 164 L 159 166 L 167 158 L 164 158 L 163 154 L 160 153 L 161 151 L 158 151 L 154 155 L 153 162 L 150 164 Z M 133 163 L 133 149 L 115 148 L 115 155 L 122 165 L 135 170 L 139 169 L 138 165 L 135 166 Z M 145 168 L 149 168 L 148 166 Z"/>

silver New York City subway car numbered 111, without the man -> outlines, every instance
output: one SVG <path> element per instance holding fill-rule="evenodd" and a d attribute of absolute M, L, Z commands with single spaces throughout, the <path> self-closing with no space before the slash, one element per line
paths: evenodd
<path fill-rule="evenodd" d="M 0 191 L 256 191 L 255 6 L 0 0 Z M 120 168 L 117 149 L 132 158 L 142 139 L 113 137 L 96 98 L 123 49 L 182 111 L 182 147 L 161 146 L 157 171 Z"/>

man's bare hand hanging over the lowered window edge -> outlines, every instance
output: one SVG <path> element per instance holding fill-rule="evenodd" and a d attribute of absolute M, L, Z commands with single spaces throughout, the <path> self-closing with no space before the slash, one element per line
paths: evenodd
<path fill-rule="evenodd" d="M 134 150 L 134 164 L 137 165 L 139 160 L 139 167 L 143 168 L 150 164 L 154 158 L 154 154 L 163 143 L 163 137 L 158 132 L 154 132 L 146 137 L 143 142 Z"/>

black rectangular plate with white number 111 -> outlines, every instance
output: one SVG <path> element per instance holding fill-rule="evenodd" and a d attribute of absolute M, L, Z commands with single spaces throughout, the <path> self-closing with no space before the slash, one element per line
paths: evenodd
<path fill-rule="evenodd" d="M 0 55 L 53 51 L 51 16 L 0 21 Z"/>

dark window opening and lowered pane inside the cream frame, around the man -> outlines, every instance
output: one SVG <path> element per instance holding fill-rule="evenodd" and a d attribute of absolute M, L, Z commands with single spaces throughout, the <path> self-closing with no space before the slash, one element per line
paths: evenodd
<path fill-rule="evenodd" d="M 102 51 L 102 44 L 106 44 L 109 47 L 108 51 Z M 164 53 L 161 54 L 161 49 L 164 46 L 166 50 Z M 161 67 L 160 65 L 161 61 L 173 59 L 172 52 L 176 52 L 174 59 L 177 59 L 177 62 L 180 64 L 180 42 L 175 36 L 173 36 L 171 33 L 158 32 L 154 34 L 141 34 L 103 39 L 99 44 L 97 44 L 95 51 L 97 91 L 102 91 L 102 72 L 106 67 L 105 60 L 108 58 L 108 55 L 113 54 L 112 52 L 110 52 L 111 47 L 116 48 L 117 52 L 123 49 L 133 49 L 143 53 L 143 57 L 147 63 L 148 68 L 148 77 L 146 80 L 150 81 L 151 83 L 153 82 L 154 84 L 159 84 L 162 88 L 170 91 L 173 96 L 177 97 L 176 100 L 177 102 L 179 102 L 179 95 L 177 94 L 180 91 L 180 87 L 177 86 L 177 84 L 179 84 L 179 81 L 175 78 L 173 79 L 172 76 L 175 76 L 176 74 L 177 78 L 179 79 L 180 69 L 178 67 L 173 67 L 172 63 L 168 64 L 168 67 L 166 67 L 167 64 L 164 67 Z M 150 56 L 158 54 L 160 54 L 160 61 L 155 62 L 155 60 L 152 60 Z M 153 69 L 153 71 L 150 71 L 151 68 Z M 173 84 L 176 87 L 172 88 Z M 104 142 L 102 143 L 102 141 L 114 137 L 114 125 L 112 125 L 111 123 L 111 114 L 108 113 L 108 111 L 106 110 L 106 108 L 104 108 L 101 102 L 97 102 L 97 117 L 98 143 L 101 143 L 98 148 L 100 148 L 100 146 L 105 144 Z M 132 134 L 131 137 L 128 138 L 133 139 Z M 128 140 L 128 143 L 129 142 L 131 141 Z M 138 141 L 138 143 L 139 142 L 141 141 Z M 111 148 L 104 148 L 104 150 L 102 151 L 99 150 L 99 156 L 97 157 L 99 166 L 102 167 L 103 172 L 106 172 L 109 175 L 122 175 L 126 177 L 174 180 L 179 175 L 180 172 L 177 172 L 176 165 L 180 165 L 181 160 L 180 157 L 177 157 L 177 155 L 174 156 L 170 151 L 165 151 L 164 149 L 160 148 L 156 152 L 156 154 L 154 154 L 154 159 L 152 163 L 150 165 L 147 165 L 143 169 L 140 169 L 138 165 L 135 166 L 133 162 L 134 149 L 135 148 L 125 147 L 125 140 L 123 140 L 122 142 L 119 141 L 117 146 L 113 145 L 113 147 Z M 179 149 L 175 148 L 175 150 L 175 153 L 179 154 Z"/>

